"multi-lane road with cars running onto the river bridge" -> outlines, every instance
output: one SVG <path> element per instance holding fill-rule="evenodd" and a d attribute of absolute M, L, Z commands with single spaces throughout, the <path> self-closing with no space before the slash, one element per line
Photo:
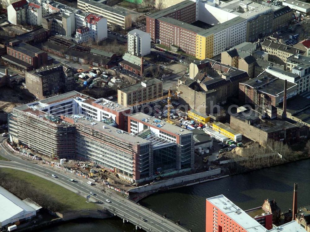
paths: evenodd
<path fill-rule="evenodd" d="M 87 180 L 77 179 L 78 182 L 69 181 L 73 176 L 68 174 L 61 174 L 57 172 L 57 169 L 47 168 L 41 165 L 33 164 L 29 162 L 24 157 L 21 158 L 17 154 L 13 155 L 11 152 L 8 152 L 5 149 L 5 145 L 1 142 L 0 155 L 10 159 L 10 161 L 0 161 L 0 167 L 17 167 L 24 170 L 31 170 L 36 175 L 45 175 L 51 178 L 53 182 L 61 186 L 69 186 L 73 189 L 76 189 L 80 192 L 89 194 L 90 192 L 95 193 L 95 196 L 92 196 L 96 200 L 102 201 L 104 207 L 107 208 L 111 213 L 116 216 L 121 217 L 125 221 L 129 221 L 137 228 L 141 228 L 145 231 L 159 232 L 159 231 L 171 231 L 171 232 L 183 232 L 188 231 L 185 228 L 178 226 L 174 222 L 163 218 L 161 215 L 150 211 L 148 208 L 144 208 L 139 204 L 134 203 L 131 200 L 124 199 L 123 197 L 115 194 L 113 196 L 102 192 L 100 189 L 95 186 L 90 186 L 86 182 Z M 57 178 L 51 177 L 52 174 L 57 175 Z M 77 178 L 77 176 L 75 176 Z M 55 181 L 57 180 L 57 181 Z M 111 201 L 110 203 L 106 200 Z M 145 219 L 145 220 L 143 220 Z"/>

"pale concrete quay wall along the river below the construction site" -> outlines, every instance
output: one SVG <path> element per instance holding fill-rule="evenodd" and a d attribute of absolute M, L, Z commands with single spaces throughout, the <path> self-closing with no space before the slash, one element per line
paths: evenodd
<path fill-rule="evenodd" d="M 210 170 L 210 171 L 206 171 L 206 172 L 195 173 L 195 174 L 191 174 L 191 175 L 187 175 L 187 176 L 180 176 L 180 177 L 171 178 L 168 180 L 158 181 L 158 182 L 155 182 L 152 184 L 132 188 L 129 191 L 135 192 L 135 193 L 154 191 L 154 190 L 157 190 L 160 188 L 166 188 L 166 187 L 173 186 L 176 184 L 182 184 L 182 183 L 185 184 L 186 182 L 195 181 L 195 180 L 199 180 L 202 178 L 218 175 L 220 173 L 221 173 L 221 169 L 219 168 L 219 169 Z"/>

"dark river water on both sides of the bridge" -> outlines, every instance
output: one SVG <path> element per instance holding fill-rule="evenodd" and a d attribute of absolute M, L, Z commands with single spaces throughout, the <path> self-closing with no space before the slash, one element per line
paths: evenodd
<path fill-rule="evenodd" d="M 259 207 L 264 199 L 275 199 L 281 211 L 292 208 L 293 185 L 298 183 L 298 207 L 310 205 L 310 159 L 246 174 L 153 194 L 140 204 L 164 214 L 193 232 L 205 231 L 206 198 L 224 194 L 242 209 Z M 133 230 L 121 219 L 71 221 L 44 232 L 123 232 Z"/>

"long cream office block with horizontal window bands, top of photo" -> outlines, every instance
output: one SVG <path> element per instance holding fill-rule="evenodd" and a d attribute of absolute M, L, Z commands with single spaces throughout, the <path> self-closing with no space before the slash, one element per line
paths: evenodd
<path fill-rule="evenodd" d="M 78 0 L 78 9 L 86 13 L 101 15 L 107 19 L 109 25 L 119 25 L 127 30 L 131 27 L 131 14 L 117 10 L 93 0 Z"/>

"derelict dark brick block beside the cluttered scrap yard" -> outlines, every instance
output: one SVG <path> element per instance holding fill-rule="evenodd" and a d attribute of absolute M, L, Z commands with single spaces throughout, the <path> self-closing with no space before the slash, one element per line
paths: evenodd
<path fill-rule="evenodd" d="M 73 90 L 74 70 L 64 64 L 45 66 L 26 72 L 26 87 L 38 99 Z"/>

